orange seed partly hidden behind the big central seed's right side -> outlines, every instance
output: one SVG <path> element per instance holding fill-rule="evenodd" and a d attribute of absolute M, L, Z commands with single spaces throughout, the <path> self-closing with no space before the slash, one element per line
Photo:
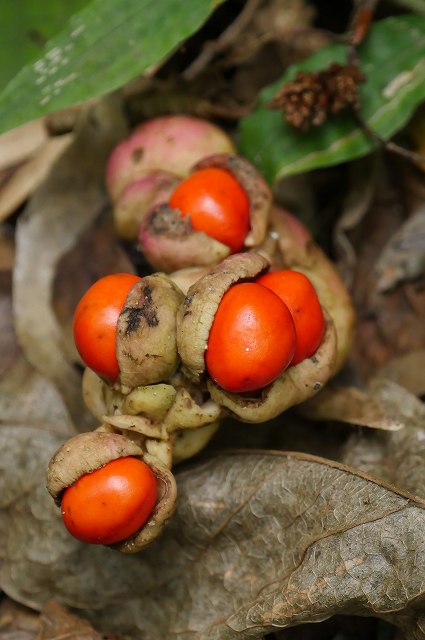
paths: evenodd
<path fill-rule="evenodd" d="M 317 293 L 303 273 L 282 269 L 271 271 L 256 280 L 276 293 L 291 312 L 297 334 L 291 365 L 314 354 L 325 332 L 325 320 Z"/>

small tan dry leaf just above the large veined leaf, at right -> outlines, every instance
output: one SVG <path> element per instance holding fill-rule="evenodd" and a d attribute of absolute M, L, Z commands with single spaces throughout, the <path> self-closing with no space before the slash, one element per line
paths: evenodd
<path fill-rule="evenodd" d="M 397 385 L 381 381 L 379 386 L 372 383 L 367 389 L 337 387 L 332 383 L 317 396 L 299 407 L 301 415 L 312 420 L 333 420 L 347 422 L 372 429 L 397 431 L 403 428 L 400 412 L 388 411 L 381 395 L 391 393 Z M 397 391 L 397 389 L 396 389 Z"/>

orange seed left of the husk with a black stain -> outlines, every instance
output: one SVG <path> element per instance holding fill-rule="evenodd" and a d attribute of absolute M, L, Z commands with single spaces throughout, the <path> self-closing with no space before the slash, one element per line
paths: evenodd
<path fill-rule="evenodd" d="M 74 340 L 84 363 L 99 376 L 117 379 L 117 322 L 130 289 L 140 278 L 114 273 L 97 280 L 83 295 L 74 314 Z"/>

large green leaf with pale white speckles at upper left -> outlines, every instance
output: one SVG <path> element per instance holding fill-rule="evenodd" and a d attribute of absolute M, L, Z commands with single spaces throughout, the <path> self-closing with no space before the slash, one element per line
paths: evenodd
<path fill-rule="evenodd" d="M 0 94 L 0 131 L 113 91 L 160 62 L 220 0 L 92 0 Z"/>

